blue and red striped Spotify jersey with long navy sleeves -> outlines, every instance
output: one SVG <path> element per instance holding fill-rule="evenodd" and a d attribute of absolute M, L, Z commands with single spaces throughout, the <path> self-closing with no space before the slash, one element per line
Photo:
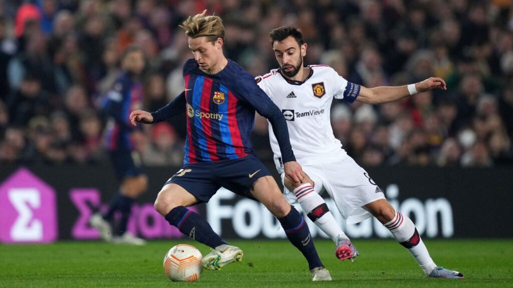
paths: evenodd
<path fill-rule="evenodd" d="M 237 159 L 253 153 L 250 134 L 255 111 L 277 126 L 284 161 L 295 160 L 281 111 L 242 67 L 228 60 L 221 72 L 207 74 L 189 59 L 183 76 L 185 91 L 152 115 L 153 122 L 160 122 L 185 108 L 184 164 Z"/>

